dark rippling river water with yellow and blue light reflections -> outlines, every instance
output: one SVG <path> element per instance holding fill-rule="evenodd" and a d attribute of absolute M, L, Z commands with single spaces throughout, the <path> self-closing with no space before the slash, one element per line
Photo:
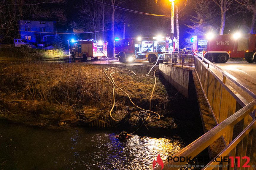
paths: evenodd
<path fill-rule="evenodd" d="M 120 142 L 111 131 L 35 129 L 0 122 L 0 169 L 152 169 L 182 141 L 133 135 Z M 1 165 L 1 163 L 3 163 Z"/>

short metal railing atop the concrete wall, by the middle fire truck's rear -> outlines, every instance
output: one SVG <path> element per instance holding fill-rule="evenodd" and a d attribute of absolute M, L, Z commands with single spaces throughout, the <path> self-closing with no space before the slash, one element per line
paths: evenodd
<path fill-rule="evenodd" d="M 194 67 L 194 53 L 178 51 L 165 53 L 163 63 Z"/>

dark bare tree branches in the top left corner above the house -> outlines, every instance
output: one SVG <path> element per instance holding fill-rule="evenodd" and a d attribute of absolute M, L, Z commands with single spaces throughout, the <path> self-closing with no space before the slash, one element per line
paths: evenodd
<path fill-rule="evenodd" d="M 1 0 L 0 42 L 18 38 L 18 21 L 23 18 L 52 18 L 55 21 L 66 22 L 63 10 L 56 7 L 61 3 L 65 3 L 65 0 Z"/>

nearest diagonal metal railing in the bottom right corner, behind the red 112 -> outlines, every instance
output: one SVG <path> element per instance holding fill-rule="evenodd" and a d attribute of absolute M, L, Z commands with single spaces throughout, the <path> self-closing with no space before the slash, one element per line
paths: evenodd
<path fill-rule="evenodd" d="M 224 120 L 216 127 L 206 132 L 203 136 L 199 137 L 190 145 L 186 146 L 178 153 L 176 153 L 174 157 L 185 157 L 192 160 L 195 156 L 201 153 L 205 148 L 211 145 L 215 140 L 221 137 L 223 134 L 228 136 L 228 145 L 225 149 L 223 149 L 217 156 L 222 158 L 224 156 L 228 157 L 227 162 L 220 161 L 221 158 L 217 156 L 214 160 L 210 161 L 203 169 L 219 169 L 214 168 L 216 165 L 226 165 L 222 166 L 222 170 L 224 169 L 245 169 L 245 164 L 247 166 L 246 169 L 251 170 L 254 169 L 252 165 L 255 165 L 255 154 L 256 154 L 256 120 L 255 118 L 251 121 L 249 120 L 250 113 L 254 113 L 256 110 L 256 100 L 249 103 L 247 106 L 243 107 L 241 110 L 237 111 L 235 114 L 231 115 L 228 119 Z M 238 135 L 234 135 L 234 132 L 238 132 Z M 247 164 L 248 158 L 249 163 Z M 234 161 L 230 158 L 234 158 Z M 238 157 L 240 161 L 238 161 Z M 174 159 L 175 160 L 175 159 Z M 180 169 L 181 165 L 185 165 L 187 162 L 184 161 L 165 161 L 163 169 Z M 202 163 L 203 164 L 203 163 Z M 161 166 L 155 168 L 156 170 L 162 169 Z"/>

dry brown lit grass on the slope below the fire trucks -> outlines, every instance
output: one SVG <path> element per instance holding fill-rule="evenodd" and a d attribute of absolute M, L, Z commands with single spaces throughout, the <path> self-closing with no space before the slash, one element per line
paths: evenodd
<path fill-rule="evenodd" d="M 30 56 L 25 61 L 0 63 L 0 117 L 39 126 L 60 122 L 77 124 L 79 119 L 83 122 L 108 119 L 112 107 L 112 84 L 104 69 L 109 67 L 113 65 L 45 63 L 34 61 Z M 120 69 L 124 68 L 115 71 Z M 144 74 L 150 66 L 128 69 Z M 137 105 L 148 109 L 154 84 L 153 72 L 141 77 L 123 71 L 116 73 L 114 79 Z M 117 110 L 132 106 L 121 90 L 116 90 L 116 101 Z M 166 90 L 158 81 L 153 110 L 161 110 L 166 102 Z"/>

